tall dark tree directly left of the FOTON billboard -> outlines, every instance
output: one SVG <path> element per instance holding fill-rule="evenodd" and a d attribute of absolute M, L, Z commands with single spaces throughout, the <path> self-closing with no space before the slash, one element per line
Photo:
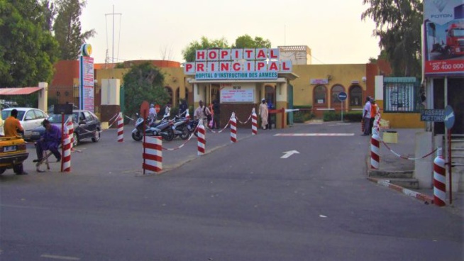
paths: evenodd
<path fill-rule="evenodd" d="M 361 19 L 375 22 L 373 35 L 380 38 L 396 76 L 421 75 L 421 0 L 363 0 L 370 7 Z"/>

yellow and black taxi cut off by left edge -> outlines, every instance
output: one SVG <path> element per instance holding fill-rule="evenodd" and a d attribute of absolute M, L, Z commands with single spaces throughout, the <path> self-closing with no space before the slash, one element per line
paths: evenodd
<path fill-rule="evenodd" d="M 23 174 L 23 161 L 29 157 L 26 143 L 18 137 L 0 137 L 0 174 L 6 169 L 13 169 L 16 174 Z"/>

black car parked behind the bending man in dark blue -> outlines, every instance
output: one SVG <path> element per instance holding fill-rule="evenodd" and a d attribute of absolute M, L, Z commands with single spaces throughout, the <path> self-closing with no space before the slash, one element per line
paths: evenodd
<path fill-rule="evenodd" d="M 77 146 L 81 140 L 87 138 L 91 138 L 94 143 L 100 140 L 101 123 L 99 118 L 92 113 L 92 111 L 74 110 L 72 111 L 72 115 L 65 115 L 65 123 L 69 120 L 70 116 L 74 125 L 74 146 Z M 50 114 L 47 119 L 50 123 L 61 129 L 61 114 Z M 31 140 L 39 140 L 44 132 L 45 128 L 43 126 L 33 129 Z"/>

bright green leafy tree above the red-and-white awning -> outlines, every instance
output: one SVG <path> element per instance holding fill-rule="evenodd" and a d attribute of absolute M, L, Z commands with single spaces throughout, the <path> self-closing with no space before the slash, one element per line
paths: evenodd
<path fill-rule="evenodd" d="M 0 1 L 0 87 L 50 82 L 57 42 L 36 0 Z"/>

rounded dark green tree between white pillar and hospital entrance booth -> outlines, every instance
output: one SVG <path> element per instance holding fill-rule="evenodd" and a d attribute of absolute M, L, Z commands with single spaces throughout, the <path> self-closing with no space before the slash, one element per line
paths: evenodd
<path fill-rule="evenodd" d="M 128 115 L 140 111 L 143 101 L 155 104 L 166 104 L 170 100 L 165 91 L 165 77 L 160 70 L 150 62 L 133 65 L 124 74 L 124 104 Z"/>

